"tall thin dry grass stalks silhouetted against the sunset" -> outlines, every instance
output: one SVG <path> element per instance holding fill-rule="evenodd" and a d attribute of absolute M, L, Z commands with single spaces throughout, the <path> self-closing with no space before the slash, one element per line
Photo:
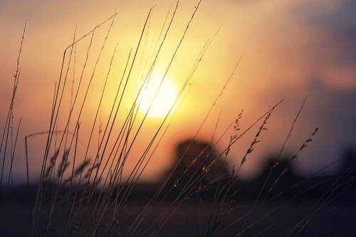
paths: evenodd
<path fill-rule="evenodd" d="M 199 4 L 195 9 L 194 14 L 198 11 Z M 135 82 L 133 74 L 135 74 L 135 70 L 138 70 L 142 71 L 141 77 L 143 81 L 136 85 L 140 88 L 139 90 L 145 89 L 142 85 L 145 85 L 146 80 L 150 80 L 152 71 L 155 69 L 157 58 L 159 58 L 165 39 L 170 33 L 169 30 L 174 21 L 177 7 L 174 9 L 170 20 L 168 18 L 169 15 L 167 15 L 167 19 L 164 21 L 161 34 L 159 35 L 159 40 L 157 40 L 155 45 L 152 43 L 151 48 L 153 48 L 153 50 L 150 50 L 149 56 L 145 59 L 143 58 L 143 53 L 140 58 L 140 52 L 143 52 L 141 51 L 141 48 L 145 48 L 146 46 L 146 43 L 142 43 L 142 41 L 145 38 L 145 33 L 148 31 L 147 22 L 150 19 L 151 10 L 147 16 L 145 25 L 143 26 L 140 39 L 137 43 L 137 48 L 130 51 L 130 55 L 127 57 L 127 62 L 122 70 L 122 77 L 117 88 L 117 93 L 110 102 L 112 107 L 108 120 L 102 121 L 101 112 L 103 100 L 105 99 L 105 93 L 108 89 L 106 88 L 106 85 L 112 70 L 116 48 L 112 52 L 108 73 L 104 80 L 103 90 L 100 95 L 100 101 L 98 102 L 94 114 L 90 117 L 93 119 L 93 125 L 92 127 L 84 128 L 85 131 L 89 131 L 87 139 L 88 143 L 86 144 L 85 149 L 78 148 L 80 134 L 83 130 L 81 121 L 85 119 L 83 117 L 83 113 L 85 112 L 84 108 L 85 105 L 88 104 L 88 98 L 92 92 L 90 88 L 93 86 L 92 82 L 95 70 L 100 63 L 100 60 L 102 60 L 102 53 L 105 49 L 107 39 L 110 37 L 111 27 L 114 23 L 116 14 L 98 26 L 95 26 L 92 31 L 78 39 L 76 33 L 74 33 L 73 43 L 64 51 L 61 75 L 58 79 L 58 83 L 56 83 L 55 93 L 53 95 L 53 107 L 51 110 L 51 121 L 48 131 L 28 135 L 25 138 L 28 186 L 28 236 L 159 236 L 162 229 L 165 228 L 170 221 L 174 221 L 174 214 L 184 210 L 184 205 L 192 205 L 192 219 L 188 220 L 187 217 L 180 223 L 182 226 L 181 236 L 185 236 L 187 233 L 189 233 L 189 236 L 258 236 L 265 234 L 268 228 L 281 223 L 283 219 L 288 218 L 293 212 L 288 212 L 288 214 L 282 216 L 280 219 L 276 218 L 272 223 L 268 223 L 265 229 L 258 229 L 260 232 L 253 232 L 255 226 L 263 223 L 266 216 L 273 216 L 273 214 L 279 210 L 287 209 L 287 206 L 292 204 L 293 200 L 298 199 L 298 196 L 303 196 L 303 193 L 308 192 L 308 189 L 313 188 L 313 186 L 307 186 L 305 189 L 298 189 L 298 187 L 303 187 L 303 184 L 309 181 L 309 179 L 301 179 L 293 184 L 293 186 L 289 186 L 286 190 L 278 190 L 278 194 L 273 192 L 273 190 L 276 189 L 276 186 L 283 182 L 284 174 L 286 174 L 291 162 L 298 159 L 298 152 L 312 141 L 313 136 L 318 132 L 318 128 L 312 132 L 310 137 L 305 140 L 305 143 L 301 145 L 300 149 L 290 158 L 286 167 L 283 167 L 282 172 L 277 174 L 277 178 L 272 181 L 272 184 L 268 183 L 268 179 L 273 177 L 273 171 L 276 167 L 279 167 L 278 162 L 280 161 L 281 154 L 289 139 L 290 133 L 293 131 L 293 127 L 298 119 L 300 111 L 303 108 L 304 101 L 303 105 L 300 107 L 298 115 L 295 116 L 295 121 L 293 122 L 293 125 L 291 125 L 290 133 L 288 137 L 286 137 L 283 147 L 281 147 L 276 162 L 273 164 L 273 167 L 271 167 L 271 171 L 266 180 L 263 181 L 263 186 L 258 191 L 257 196 L 253 197 L 255 201 L 253 201 L 251 206 L 248 206 L 248 211 L 241 211 L 241 215 L 234 221 L 231 221 L 231 214 L 235 213 L 236 210 L 239 211 L 246 208 L 246 206 L 238 204 L 239 196 L 246 191 L 246 188 L 241 188 L 241 186 L 237 185 L 239 171 L 246 162 L 246 159 L 248 159 L 249 154 L 253 152 L 253 149 L 255 149 L 256 146 L 258 146 L 256 144 L 260 142 L 259 136 L 262 133 L 267 132 L 266 125 L 268 125 L 268 120 L 273 115 L 273 111 L 282 102 L 278 102 L 271 108 L 271 110 L 268 110 L 263 116 L 256 119 L 256 121 L 253 122 L 250 127 L 245 129 L 244 132 L 241 132 L 241 127 L 239 127 L 239 122 L 244 118 L 243 111 L 241 111 L 237 118 L 232 118 L 231 120 L 233 120 L 233 122 L 231 122 L 229 127 L 234 126 L 234 130 L 230 135 L 229 144 L 226 145 L 226 148 L 221 154 L 212 155 L 215 146 L 221 137 L 218 139 L 218 142 L 213 142 L 213 139 L 211 139 L 210 142 L 205 143 L 197 142 L 198 132 L 211 114 L 211 110 L 215 107 L 216 101 L 221 98 L 225 88 L 229 86 L 229 81 L 233 78 L 240 59 L 236 62 L 236 66 L 232 70 L 229 78 L 227 78 L 224 88 L 218 95 L 216 95 L 216 99 L 211 105 L 209 112 L 207 112 L 204 117 L 204 120 L 201 122 L 197 134 L 185 143 L 185 150 L 183 149 L 177 162 L 175 162 L 175 166 L 166 174 L 162 185 L 157 186 L 157 190 L 150 193 L 151 196 L 147 199 L 147 203 L 142 209 L 137 211 L 135 216 L 130 217 L 128 214 L 125 215 L 125 210 L 126 213 L 130 212 L 127 212 L 127 206 L 130 207 L 132 196 L 137 194 L 137 186 L 140 189 L 142 188 L 139 181 L 142 172 L 150 162 L 152 154 L 156 151 L 157 147 L 159 147 L 159 142 L 162 137 L 164 137 L 174 118 L 173 105 L 167 116 L 162 120 L 161 125 L 159 125 L 157 130 L 153 133 L 150 143 L 145 148 L 142 157 L 138 159 L 136 166 L 132 168 L 130 176 L 128 178 L 125 177 L 123 174 L 124 169 L 127 169 L 127 159 L 130 152 L 132 152 L 132 149 L 135 149 L 137 136 L 142 133 L 142 127 L 145 127 L 144 122 L 147 119 L 147 114 L 143 117 L 140 117 L 138 114 L 140 101 L 137 100 L 136 97 L 134 100 L 131 100 L 132 104 L 127 110 L 127 116 L 122 120 L 122 111 L 125 111 L 122 107 L 124 104 L 127 104 L 127 98 L 125 97 L 127 90 L 129 90 L 127 85 L 132 81 Z M 174 49 L 172 58 L 165 70 L 164 77 L 167 75 L 176 53 L 179 51 L 181 43 L 184 41 L 186 32 L 189 31 L 189 26 L 194 19 L 194 14 L 192 14 L 192 19 L 190 19 L 187 28 L 184 33 L 182 33 L 182 38 L 177 44 L 177 48 Z M 93 47 L 95 32 L 98 28 L 102 28 L 108 24 L 110 26 L 103 39 L 103 45 L 98 51 L 98 57 L 94 60 L 94 63 L 90 64 L 90 52 Z M 26 25 L 23 30 L 23 37 L 25 31 Z M 69 87 L 69 72 L 70 70 L 74 71 L 76 68 L 76 46 L 86 39 L 89 39 L 87 45 L 88 50 L 83 57 L 84 62 L 81 64 L 80 78 L 77 78 L 75 81 L 75 77 L 73 76 L 71 87 Z M 191 73 L 188 75 L 184 85 L 182 85 L 182 88 L 179 91 L 176 102 L 181 95 L 184 95 L 184 92 L 187 90 L 189 91 L 189 88 L 187 88 L 187 85 L 189 85 L 190 82 L 189 80 L 192 78 L 192 75 L 194 75 L 195 70 L 199 67 L 201 59 L 204 58 L 205 53 L 209 50 L 209 45 L 213 40 L 214 37 L 207 41 L 206 45 L 201 50 L 201 54 L 192 66 Z M 0 190 L 2 191 L 6 189 L 3 216 L 1 220 L 1 231 L 3 231 L 3 233 L 4 211 L 6 201 L 9 199 L 7 190 L 9 190 L 11 186 L 12 164 L 14 161 L 14 153 L 16 151 L 16 142 L 18 140 L 17 135 L 21 129 L 20 119 L 17 130 L 15 130 L 16 126 L 14 125 L 13 114 L 14 98 L 21 78 L 19 60 L 22 43 L 23 38 L 16 66 L 16 73 L 14 75 L 13 96 L 11 98 L 0 145 L 0 154 L 3 152 L 2 154 L 4 155 Z M 139 60 L 141 61 L 139 62 Z M 135 67 L 136 64 L 140 65 L 139 69 Z M 92 69 L 90 73 L 88 73 L 88 70 L 90 70 L 88 66 Z M 141 70 L 140 68 L 142 67 L 143 69 Z M 86 77 L 89 79 L 84 83 Z M 162 80 L 164 80 L 164 78 L 162 78 Z M 76 89 L 74 85 L 77 86 Z M 68 116 L 64 116 L 66 107 L 63 105 L 63 102 L 65 101 L 66 95 L 70 95 Z M 226 166 L 226 157 L 229 155 L 231 147 L 236 145 L 236 142 L 244 136 L 246 132 L 251 130 L 252 127 L 258 125 L 258 123 L 261 123 L 261 127 L 259 127 L 255 139 L 253 139 L 251 146 L 246 151 L 240 166 L 233 167 L 231 172 L 229 171 L 229 173 L 226 174 L 226 170 L 228 170 L 228 166 Z M 119 135 L 114 132 L 114 130 L 117 130 L 117 126 L 120 128 Z M 70 127 L 73 127 L 73 129 L 70 129 Z M 90 151 L 93 151 L 95 131 L 98 132 L 98 147 L 94 149 L 94 158 L 90 159 L 88 154 L 90 154 Z M 27 154 L 27 139 L 28 137 L 43 134 L 46 134 L 47 136 L 46 149 L 43 154 L 43 164 L 41 167 L 38 190 L 36 192 L 36 200 L 34 201 L 34 204 L 32 204 L 29 195 L 30 182 L 28 178 L 28 162 L 30 161 L 28 160 Z M 226 135 L 226 132 L 224 135 Z M 110 144 L 113 145 L 110 146 Z M 189 147 L 194 145 L 201 145 L 203 148 L 198 149 L 199 154 L 194 154 L 194 156 L 192 156 L 192 154 L 189 154 Z M 9 151 L 11 152 L 10 155 L 8 153 Z M 78 157 L 84 158 L 80 159 L 78 162 Z M 5 159 L 11 160 L 8 177 L 4 176 L 4 174 L 6 174 L 4 171 Z M 214 167 L 219 168 L 214 169 Z M 302 215 L 298 221 L 294 220 L 293 225 L 279 228 L 282 232 L 276 233 L 276 236 L 297 236 L 301 231 L 304 231 L 306 228 L 305 226 L 307 226 L 308 223 L 315 221 L 315 218 L 318 218 L 318 214 L 320 211 L 324 210 L 323 208 L 326 205 L 332 203 L 333 200 L 337 198 L 337 195 L 347 191 L 347 189 L 350 189 L 350 187 L 355 184 L 355 174 L 352 174 L 351 172 L 351 170 L 354 169 L 353 167 L 355 167 L 355 164 L 352 164 L 352 166 L 342 173 L 338 179 L 335 179 L 333 186 L 325 189 L 325 192 L 320 195 L 317 201 L 313 202 L 312 207 L 307 214 Z M 214 177 L 216 177 L 216 179 L 206 178 L 211 172 L 215 172 Z M 6 186 L 2 186 L 4 180 L 7 180 Z M 317 181 L 315 186 L 318 187 L 321 184 L 323 184 L 323 181 Z M 152 186 L 154 185 L 152 184 Z M 146 189 L 149 188 L 146 187 Z M 297 193 L 294 193 L 288 199 L 281 199 L 284 194 L 288 194 L 295 189 L 298 190 Z M 145 192 L 145 190 L 141 191 Z M 209 192 L 211 199 L 204 199 L 206 195 L 209 196 L 209 194 L 207 194 Z M 204 219 L 201 219 L 201 216 L 199 216 L 199 214 L 201 214 L 201 211 L 199 212 L 201 204 L 206 207 Z M 264 206 L 271 204 L 278 205 L 268 211 L 261 211 Z M 123 216 L 122 213 L 124 213 Z M 226 218 L 229 218 L 229 221 L 225 222 Z M 233 228 L 234 233 L 231 233 L 229 231 L 233 226 L 239 227 Z M 253 234 L 251 232 L 248 233 L 248 231 L 252 231 Z M 315 232 L 316 231 L 313 230 L 313 235 Z M 179 233 L 176 234 L 179 236 Z"/>

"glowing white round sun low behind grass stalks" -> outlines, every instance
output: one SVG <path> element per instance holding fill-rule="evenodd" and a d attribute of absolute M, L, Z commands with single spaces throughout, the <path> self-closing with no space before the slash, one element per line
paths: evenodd
<path fill-rule="evenodd" d="M 147 116 L 149 117 L 163 117 L 167 115 L 171 107 L 174 105 L 178 90 L 172 83 L 172 80 L 167 76 L 159 87 L 162 78 L 163 76 L 151 75 L 150 80 L 147 79 L 147 82 L 143 85 L 141 93 L 137 98 L 137 106 L 140 106 L 138 110 L 142 114 L 145 115 L 148 111 Z"/>

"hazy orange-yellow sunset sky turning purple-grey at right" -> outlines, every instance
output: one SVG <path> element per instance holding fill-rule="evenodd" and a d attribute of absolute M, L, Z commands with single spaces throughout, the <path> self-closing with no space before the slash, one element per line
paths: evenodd
<path fill-rule="evenodd" d="M 263 157 L 278 154 L 305 98 L 305 105 L 295 122 L 283 155 L 298 152 L 315 127 L 319 130 L 313 136 L 313 141 L 308 143 L 308 147 L 298 153 L 293 169 L 302 175 L 312 174 L 339 159 L 340 152 L 345 147 L 355 147 L 354 1 L 209 0 L 201 1 L 194 14 L 198 3 L 199 1 L 179 1 L 172 26 L 157 58 L 153 74 L 162 77 L 169 67 L 165 80 L 170 80 L 179 90 L 197 62 L 200 52 L 206 49 L 189 85 L 159 132 L 160 138 L 162 131 L 169 124 L 167 132 L 142 174 L 142 180 L 157 181 L 159 174 L 172 165 L 174 144 L 189 137 L 197 135 L 198 139 L 212 141 L 213 144 L 217 142 L 216 149 L 223 152 L 228 147 L 231 136 L 241 135 L 281 100 L 283 102 L 273 110 L 267 120 L 265 127 L 268 130 L 263 130 L 258 137 L 261 142 L 255 144 L 253 152 L 248 154 L 241 168 L 241 179 L 256 176 L 261 172 Z M 132 50 L 129 60 L 132 62 L 142 28 L 152 9 L 130 75 L 132 83 L 127 85 L 127 93 L 112 133 L 113 138 L 109 142 L 110 147 L 113 146 L 112 141 L 115 141 L 115 136 L 117 137 L 132 105 L 137 90 L 133 82 L 142 78 L 142 72 L 147 67 L 145 64 L 147 57 L 153 51 L 157 39 L 159 42 L 162 41 L 163 35 L 159 38 L 159 32 L 164 19 L 167 16 L 165 31 L 176 5 L 176 1 L 170 0 L 0 1 L 1 134 L 9 111 L 16 61 L 26 22 L 19 62 L 21 78 L 14 100 L 14 131 L 21 117 L 19 141 L 14 153 L 14 180 L 17 182 L 26 180 L 24 137 L 49 129 L 53 93 L 61 75 L 63 53 L 73 43 L 74 33 L 77 39 L 85 36 L 95 26 L 117 13 L 111 28 L 112 19 L 95 29 L 92 43 L 91 34 L 76 43 L 69 64 L 66 93 L 63 95 L 63 105 L 56 125 L 57 142 L 53 141 L 52 152 L 59 144 L 61 130 L 69 114 L 70 100 L 73 100 L 71 93 L 73 78 L 75 78 L 73 88 L 78 88 L 79 78 L 85 66 L 83 83 L 78 94 L 78 101 L 81 101 L 85 96 L 83 88 L 89 83 L 95 61 L 110 28 L 108 40 L 105 41 L 105 48 L 93 75 L 88 98 L 85 100 L 83 114 L 78 120 L 80 122 L 78 159 L 83 160 L 104 85 L 105 94 L 100 120 L 105 125 L 127 57 Z M 194 18 L 184 35 L 193 14 Z M 184 39 L 179 45 L 183 35 Z M 204 48 L 207 45 L 209 47 Z M 117 50 L 112 58 L 115 46 Z M 172 60 L 177 47 L 177 53 Z M 85 65 L 88 48 L 90 57 Z M 70 48 L 66 54 L 64 68 L 68 67 L 69 52 Z M 105 84 L 111 60 L 112 69 Z M 172 64 L 169 65 L 171 60 Z M 241 110 L 244 112 L 239 120 L 240 130 L 234 132 L 233 123 Z M 70 132 L 75 131 L 75 116 L 78 116 L 78 112 L 79 107 L 73 112 Z M 143 116 L 139 114 L 137 121 L 142 119 Z M 257 122 L 231 146 L 226 157 L 230 168 L 233 165 L 239 167 L 263 120 Z M 130 170 L 135 167 L 137 159 L 145 151 L 162 121 L 162 117 L 145 119 L 130 151 L 127 169 L 124 170 L 125 176 L 128 176 Z M 98 124 L 99 121 L 95 125 L 88 157 L 95 157 L 95 149 L 98 148 Z M 135 125 L 135 129 L 138 125 L 139 123 Z M 158 139 L 155 142 L 157 143 Z M 28 138 L 31 180 L 38 179 L 45 146 L 46 135 Z M 4 150 L 2 149 L 0 153 L 1 165 Z M 11 160 L 9 152 L 7 154 L 5 170 L 9 170 Z M 77 164 L 79 163 L 77 161 Z M 337 172 L 337 165 L 325 170 L 325 174 L 333 172 Z M 9 172 L 4 174 L 7 177 Z"/>

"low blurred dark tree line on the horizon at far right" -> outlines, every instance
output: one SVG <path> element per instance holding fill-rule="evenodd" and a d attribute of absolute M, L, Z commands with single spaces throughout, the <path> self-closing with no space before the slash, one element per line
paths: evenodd
<path fill-rule="evenodd" d="M 343 165 L 337 174 L 303 178 L 291 169 L 290 157 L 284 157 L 281 162 L 268 157 L 263 173 L 245 185 L 244 189 L 248 191 L 243 193 L 248 193 L 248 197 L 257 197 L 261 192 L 260 200 L 266 197 L 268 191 L 268 198 L 279 196 L 283 199 L 333 202 L 355 200 L 355 147 L 345 147 L 340 157 Z"/>

